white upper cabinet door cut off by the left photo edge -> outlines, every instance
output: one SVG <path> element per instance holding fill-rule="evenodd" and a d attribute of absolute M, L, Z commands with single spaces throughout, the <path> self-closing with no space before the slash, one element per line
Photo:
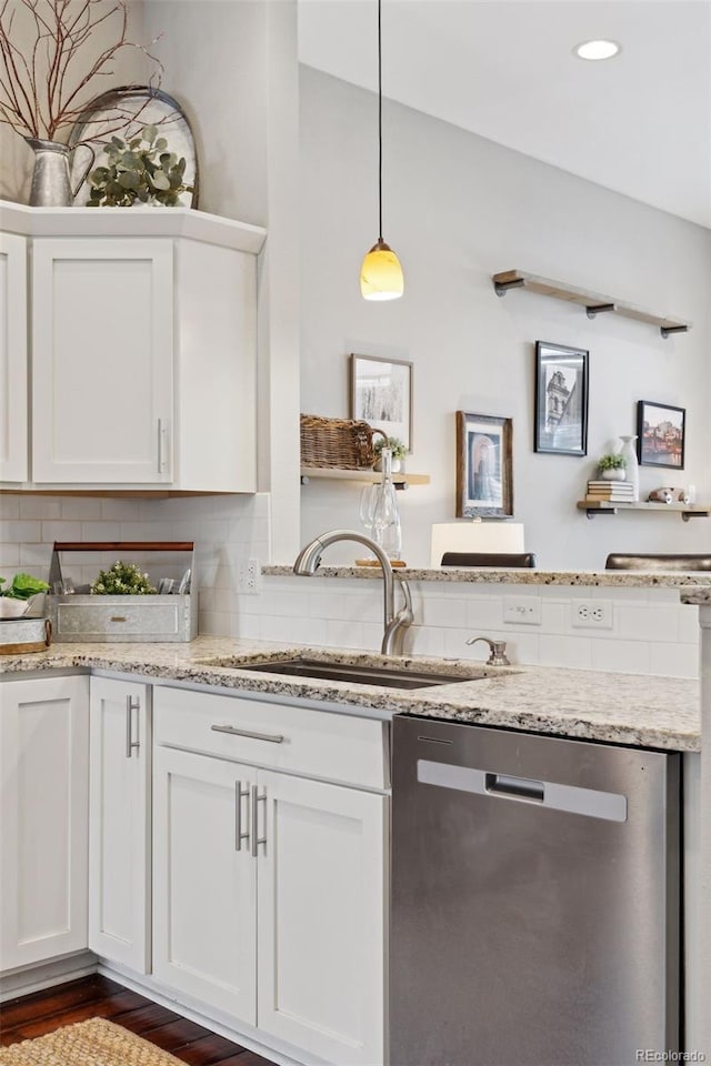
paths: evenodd
<path fill-rule="evenodd" d="M 28 477 L 27 245 L 0 233 L 0 481 Z"/>

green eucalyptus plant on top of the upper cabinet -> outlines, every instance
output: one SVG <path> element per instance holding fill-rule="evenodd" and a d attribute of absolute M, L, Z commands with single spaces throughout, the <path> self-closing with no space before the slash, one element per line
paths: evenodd
<path fill-rule="evenodd" d="M 193 185 L 184 183 L 184 157 L 178 159 L 158 133 L 158 127 L 146 125 L 128 142 L 112 137 L 101 145 L 107 165 L 89 174 L 88 208 L 131 208 L 137 201 L 180 207 L 181 194 Z"/>

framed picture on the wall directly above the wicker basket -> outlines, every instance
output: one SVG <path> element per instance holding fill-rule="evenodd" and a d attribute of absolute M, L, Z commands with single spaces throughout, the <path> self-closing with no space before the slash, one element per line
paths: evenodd
<path fill-rule="evenodd" d="M 363 419 L 412 451 L 412 363 L 351 355 L 351 419 Z"/>

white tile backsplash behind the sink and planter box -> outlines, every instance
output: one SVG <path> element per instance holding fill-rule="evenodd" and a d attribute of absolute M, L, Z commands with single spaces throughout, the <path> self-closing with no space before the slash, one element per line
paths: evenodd
<path fill-rule="evenodd" d="M 258 595 L 238 592 L 241 561 L 269 559 L 269 499 L 199 496 L 100 500 L 11 494 L 0 501 L 0 576 L 26 569 L 47 579 L 54 540 L 193 540 L 200 590 L 200 632 L 253 640 L 379 650 L 382 582 L 378 579 L 270 577 Z M 96 576 L 97 557 L 72 557 L 82 580 Z M 699 675 L 699 611 L 675 589 L 498 585 L 412 582 L 414 624 L 405 652 L 482 661 L 483 644 L 505 641 L 513 663 L 571 670 Z M 511 596 L 539 596 L 541 624 L 503 622 Z M 573 600 L 610 600 L 611 630 L 571 626 Z M 395 606 L 402 602 L 395 586 Z"/>

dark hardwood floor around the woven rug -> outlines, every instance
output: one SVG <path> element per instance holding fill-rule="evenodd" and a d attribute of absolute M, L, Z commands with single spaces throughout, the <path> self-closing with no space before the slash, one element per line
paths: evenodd
<path fill-rule="evenodd" d="M 0 1044 L 28 1040 L 87 1018 L 109 1018 L 192 1066 L 272 1066 L 270 1059 L 98 974 L 2 1004 Z"/>

